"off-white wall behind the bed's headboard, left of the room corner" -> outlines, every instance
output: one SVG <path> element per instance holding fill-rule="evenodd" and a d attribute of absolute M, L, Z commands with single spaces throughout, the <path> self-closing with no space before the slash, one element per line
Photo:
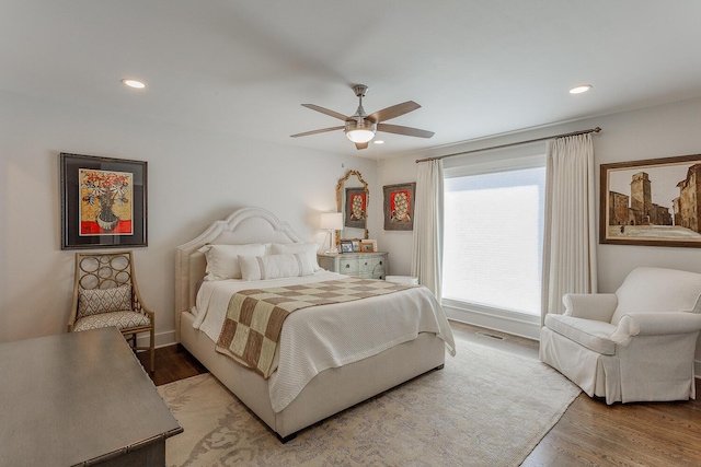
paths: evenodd
<path fill-rule="evenodd" d="M 134 250 L 157 345 L 173 339 L 177 245 L 245 206 L 321 244 L 319 213 L 335 210 L 337 179 L 353 168 L 374 192 L 378 186 L 376 162 L 366 159 L 0 93 L 0 342 L 66 329 L 73 252 L 60 249 L 60 152 L 148 162 L 149 246 Z M 380 210 L 374 198 L 370 209 Z"/>

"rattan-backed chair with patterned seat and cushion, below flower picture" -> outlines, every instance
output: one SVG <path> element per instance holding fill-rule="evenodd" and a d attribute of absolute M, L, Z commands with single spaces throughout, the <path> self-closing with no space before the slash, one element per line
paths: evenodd
<path fill-rule="evenodd" d="M 151 352 L 153 372 L 156 317 L 139 294 L 131 252 L 77 253 L 68 332 L 108 326 L 116 326 L 135 352 Z M 149 332 L 148 347 L 137 346 L 141 332 Z"/>

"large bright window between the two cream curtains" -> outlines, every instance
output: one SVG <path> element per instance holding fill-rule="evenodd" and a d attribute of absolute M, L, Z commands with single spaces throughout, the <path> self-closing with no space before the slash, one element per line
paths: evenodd
<path fill-rule="evenodd" d="M 540 315 L 544 157 L 457 168 L 445 179 L 444 297 Z"/>

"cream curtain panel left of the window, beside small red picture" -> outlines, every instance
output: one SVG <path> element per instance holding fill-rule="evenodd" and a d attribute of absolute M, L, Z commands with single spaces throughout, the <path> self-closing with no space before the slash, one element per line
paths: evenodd
<path fill-rule="evenodd" d="M 418 163 L 412 276 L 440 302 L 443 268 L 443 161 Z"/>

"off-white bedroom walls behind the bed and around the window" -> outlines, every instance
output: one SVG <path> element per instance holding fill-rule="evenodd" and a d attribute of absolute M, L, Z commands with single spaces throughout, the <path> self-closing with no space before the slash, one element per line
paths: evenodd
<path fill-rule="evenodd" d="M 0 342 L 65 330 L 73 253 L 60 249 L 60 152 L 148 161 L 149 246 L 135 248 L 135 255 L 141 293 L 157 312 L 159 345 L 172 340 L 174 248 L 235 208 L 268 209 L 300 234 L 322 243 L 325 232 L 317 229 L 319 212 L 335 208 L 336 180 L 347 170 L 358 170 L 371 192 L 370 237 L 390 253 L 390 273 L 409 275 L 412 233 L 382 229 L 382 186 L 416 180 L 416 159 L 595 126 L 604 129 L 594 136 L 597 171 L 602 163 L 701 153 L 701 100 L 435 149 L 379 164 L 9 93 L 0 93 Z M 543 151 L 544 143 L 536 143 L 468 157 Z M 701 249 L 697 248 L 599 245 L 598 260 L 602 292 L 616 290 L 641 265 L 701 272 Z M 701 360 L 701 350 L 698 354 Z"/>

